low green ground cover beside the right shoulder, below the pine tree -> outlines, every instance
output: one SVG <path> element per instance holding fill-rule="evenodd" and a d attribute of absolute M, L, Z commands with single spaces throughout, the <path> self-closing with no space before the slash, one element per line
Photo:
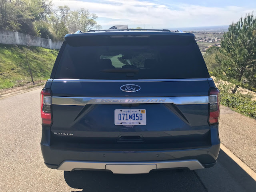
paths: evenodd
<path fill-rule="evenodd" d="M 240 92 L 232 94 L 228 86 L 224 84 L 221 84 L 218 88 L 220 90 L 220 103 L 222 105 L 256 119 L 256 101 L 252 100 L 251 95 L 242 94 Z"/>

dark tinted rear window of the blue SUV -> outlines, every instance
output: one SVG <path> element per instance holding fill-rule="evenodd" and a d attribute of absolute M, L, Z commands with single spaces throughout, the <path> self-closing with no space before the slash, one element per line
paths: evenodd
<path fill-rule="evenodd" d="M 208 78 L 200 50 L 191 39 L 109 37 L 102 45 L 99 39 L 95 39 L 95 45 L 91 39 L 88 44 L 64 42 L 66 46 L 52 78 Z"/>

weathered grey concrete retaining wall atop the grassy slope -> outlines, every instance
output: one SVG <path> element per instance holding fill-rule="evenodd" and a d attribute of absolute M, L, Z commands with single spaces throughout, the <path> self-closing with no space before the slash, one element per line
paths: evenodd
<path fill-rule="evenodd" d="M 52 41 L 41 37 L 30 36 L 16 31 L 0 30 L 0 43 L 12 45 L 27 45 L 43 47 L 47 49 L 60 49 L 62 41 Z"/>

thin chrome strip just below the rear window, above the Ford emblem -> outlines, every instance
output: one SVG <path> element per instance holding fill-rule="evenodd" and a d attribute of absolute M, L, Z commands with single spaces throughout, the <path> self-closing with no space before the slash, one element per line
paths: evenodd
<path fill-rule="evenodd" d="M 207 81 L 212 78 L 191 79 L 54 79 L 53 82 L 164 82 L 164 81 Z"/>

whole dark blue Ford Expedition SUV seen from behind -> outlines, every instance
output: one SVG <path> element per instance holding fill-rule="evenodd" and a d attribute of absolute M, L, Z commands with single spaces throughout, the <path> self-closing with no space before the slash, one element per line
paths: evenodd
<path fill-rule="evenodd" d="M 68 34 L 41 92 L 47 167 L 140 174 L 208 168 L 220 95 L 194 34 Z"/>

